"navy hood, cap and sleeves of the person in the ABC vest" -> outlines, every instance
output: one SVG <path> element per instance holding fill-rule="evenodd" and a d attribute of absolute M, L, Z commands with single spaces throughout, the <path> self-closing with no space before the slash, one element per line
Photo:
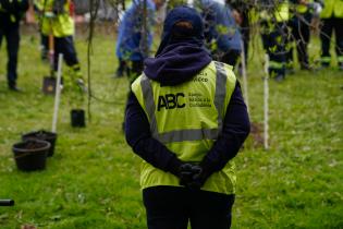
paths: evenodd
<path fill-rule="evenodd" d="M 193 31 L 175 27 L 175 23 L 180 21 L 191 22 Z M 180 37 L 175 34 L 186 36 Z M 210 61 L 210 55 L 204 48 L 201 17 L 194 9 L 181 7 L 168 14 L 156 58 L 145 61 L 144 72 L 147 77 L 161 85 L 177 85 L 189 81 Z M 249 126 L 247 109 L 237 83 L 224 118 L 222 134 L 201 161 L 203 166 L 210 172 L 221 170 L 237 154 L 249 133 Z M 133 150 L 152 166 L 172 171 L 181 165 L 173 152 L 151 136 L 148 119 L 133 93 L 126 105 L 125 134 Z"/>

